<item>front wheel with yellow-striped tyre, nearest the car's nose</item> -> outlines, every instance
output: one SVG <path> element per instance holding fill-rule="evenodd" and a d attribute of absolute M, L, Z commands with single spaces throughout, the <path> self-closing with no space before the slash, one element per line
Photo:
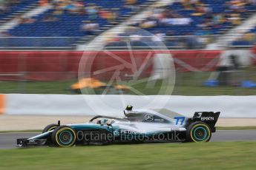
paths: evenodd
<path fill-rule="evenodd" d="M 76 143 L 76 132 L 70 126 L 57 127 L 51 136 L 56 146 L 67 148 Z"/>

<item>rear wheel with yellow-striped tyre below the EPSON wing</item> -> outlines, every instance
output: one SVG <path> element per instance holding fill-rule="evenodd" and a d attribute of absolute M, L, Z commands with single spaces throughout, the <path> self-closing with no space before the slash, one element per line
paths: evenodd
<path fill-rule="evenodd" d="M 209 142 L 211 140 L 211 129 L 203 122 L 194 122 L 188 126 L 186 141 L 188 142 Z"/>

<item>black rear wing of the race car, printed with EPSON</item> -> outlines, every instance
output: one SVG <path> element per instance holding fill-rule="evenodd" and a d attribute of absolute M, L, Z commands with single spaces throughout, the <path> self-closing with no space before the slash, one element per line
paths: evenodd
<path fill-rule="evenodd" d="M 220 112 L 194 112 L 193 118 L 188 119 L 188 124 L 201 121 L 208 124 L 211 128 L 211 132 L 215 132 L 215 124 L 219 119 Z"/>

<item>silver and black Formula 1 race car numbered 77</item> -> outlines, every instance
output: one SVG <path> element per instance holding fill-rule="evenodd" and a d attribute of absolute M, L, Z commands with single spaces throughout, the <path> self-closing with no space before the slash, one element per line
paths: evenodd
<path fill-rule="evenodd" d="M 97 115 L 88 123 L 50 124 L 42 134 L 17 139 L 25 146 L 81 146 L 105 143 L 208 142 L 220 112 L 195 112 L 193 118 L 167 109 L 127 106 L 124 117 Z"/>

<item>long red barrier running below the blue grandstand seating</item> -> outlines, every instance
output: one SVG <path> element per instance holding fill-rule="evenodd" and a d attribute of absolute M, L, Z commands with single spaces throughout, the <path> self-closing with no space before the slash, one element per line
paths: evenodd
<path fill-rule="evenodd" d="M 103 75 L 91 75 L 98 78 L 111 78 L 115 66 L 121 66 L 120 72 L 134 74 L 133 62 L 137 68 L 145 64 L 142 76 L 148 76 L 152 70 L 152 58 L 157 53 L 171 53 L 176 69 L 183 71 L 211 71 L 216 67 L 220 56 L 219 50 L 184 50 L 184 51 L 1 51 L 0 80 L 58 81 L 77 78 L 79 62 L 82 59 L 85 74 L 101 70 Z M 85 60 L 84 60 L 85 59 Z M 90 68 L 91 67 L 91 68 Z M 108 69 L 107 69 L 108 68 Z M 104 70 L 106 69 L 106 70 Z M 89 70 L 89 72 L 88 72 Z M 81 71 L 81 70 L 80 70 Z M 17 75 L 15 75 L 17 74 Z"/>

